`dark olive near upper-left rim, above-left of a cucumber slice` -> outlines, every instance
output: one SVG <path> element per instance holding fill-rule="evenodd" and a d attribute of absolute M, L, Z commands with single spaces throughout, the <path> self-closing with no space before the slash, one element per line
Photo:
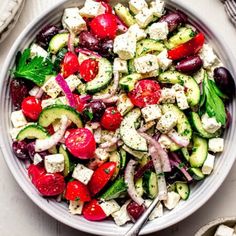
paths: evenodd
<path fill-rule="evenodd" d="M 45 26 L 36 36 L 36 42 L 43 48 L 47 48 L 51 38 L 58 34 L 59 28 L 55 25 Z"/>

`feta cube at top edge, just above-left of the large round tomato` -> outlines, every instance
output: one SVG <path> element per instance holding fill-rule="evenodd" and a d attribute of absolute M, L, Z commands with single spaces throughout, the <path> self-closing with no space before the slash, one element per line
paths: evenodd
<path fill-rule="evenodd" d="M 104 14 L 105 11 L 106 9 L 101 2 L 86 0 L 84 7 L 80 9 L 79 13 L 82 17 L 93 18 L 95 16 Z"/>

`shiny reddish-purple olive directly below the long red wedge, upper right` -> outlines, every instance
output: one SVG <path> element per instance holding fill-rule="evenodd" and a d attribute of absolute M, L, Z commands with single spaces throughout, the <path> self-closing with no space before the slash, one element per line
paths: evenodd
<path fill-rule="evenodd" d="M 185 74 L 193 74 L 201 69 L 203 61 L 199 56 L 188 57 L 176 65 L 176 70 Z"/>

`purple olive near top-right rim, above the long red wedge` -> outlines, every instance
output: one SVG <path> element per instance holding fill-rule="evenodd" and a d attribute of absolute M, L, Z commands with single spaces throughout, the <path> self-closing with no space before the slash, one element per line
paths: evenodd
<path fill-rule="evenodd" d="M 167 22 L 169 31 L 174 31 L 179 25 L 186 23 L 187 17 L 180 12 L 171 12 L 161 17 L 159 22 Z"/>

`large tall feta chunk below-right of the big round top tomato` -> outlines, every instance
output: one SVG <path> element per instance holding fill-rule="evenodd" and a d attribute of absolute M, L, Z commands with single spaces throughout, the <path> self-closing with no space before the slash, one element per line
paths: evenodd
<path fill-rule="evenodd" d="M 127 31 L 124 34 L 115 37 L 114 53 L 117 53 L 120 59 L 129 60 L 134 58 L 136 52 L 136 37 Z"/>

